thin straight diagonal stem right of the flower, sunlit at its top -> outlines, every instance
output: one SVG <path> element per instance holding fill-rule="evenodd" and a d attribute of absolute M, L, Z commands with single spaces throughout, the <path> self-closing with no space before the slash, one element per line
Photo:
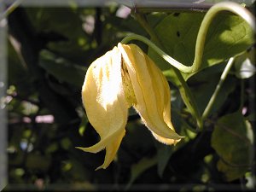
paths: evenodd
<path fill-rule="evenodd" d="M 214 92 L 211 96 L 211 99 L 207 104 L 207 108 L 205 109 L 204 113 L 202 114 L 202 119 L 206 119 L 207 116 L 209 115 L 209 113 L 211 112 L 213 103 L 215 102 L 215 100 L 218 96 L 219 90 L 221 89 L 222 85 L 224 84 L 224 80 L 226 79 L 228 73 L 230 72 L 230 68 L 232 67 L 233 62 L 234 62 L 234 57 L 231 57 L 230 60 L 228 61 L 228 64 L 224 68 L 224 72 L 221 74 L 221 77 L 219 79 L 217 87 L 214 90 Z"/>

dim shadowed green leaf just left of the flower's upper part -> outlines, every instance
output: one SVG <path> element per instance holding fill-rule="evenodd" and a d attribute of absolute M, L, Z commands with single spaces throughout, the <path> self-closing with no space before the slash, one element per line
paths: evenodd
<path fill-rule="evenodd" d="M 77 87 L 81 87 L 84 82 L 86 67 L 73 64 L 47 50 L 41 52 L 39 65 L 61 82 L 64 81 Z"/>

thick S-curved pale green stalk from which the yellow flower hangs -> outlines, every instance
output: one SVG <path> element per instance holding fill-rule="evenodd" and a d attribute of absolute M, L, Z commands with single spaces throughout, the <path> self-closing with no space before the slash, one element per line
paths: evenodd
<path fill-rule="evenodd" d="M 196 43 L 195 43 L 195 59 L 191 66 L 183 65 L 182 63 L 176 61 L 173 59 L 170 55 L 167 55 L 162 49 L 157 47 L 155 44 L 153 44 L 148 38 L 144 38 L 142 36 L 131 34 L 130 36 L 127 36 L 122 40 L 121 43 L 125 44 L 133 39 L 137 39 L 142 41 L 145 44 L 148 44 L 149 47 L 154 49 L 154 51 L 159 54 L 164 60 L 166 60 L 168 63 L 170 63 L 173 67 L 176 67 L 179 71 L 183 73 L 195 73 L 198 71 L 201 67 L 201 59 L 203 56 L 203 49 L 205 45 L 205 41 L 207 38 L 207 31 L 209 29 L 210 24 L 212 23 L 213 18 L 218 14 L 220 11 L 228 10 L 230 12 L 235 13 L 236 15 L 240 15 L 241 18 L 247 21 L 247 23 L 255 29 L 255 24 L 253 20 L 253 15 L 247 11 L 247 9 L 244 9 L 241 7 L 241 5 L 237 3 L 232 2 L 223 2 L 223 3 L 217 3 L 214 6 L 212 6 L 211 9 L 207 12 L 204 19 L 201 22 L 201 27 L 199 29 Z M 150 26 L 148 26 L 148 23 L 145 21 L 142 15 L 137 14 L 137 20 L 141 23 L 141 25 L 146 29 L 150 37 L 154 42 L 157 42 L 160 45 L 159 39 L 154 35 L 153 30 L 151 30 Z"/>

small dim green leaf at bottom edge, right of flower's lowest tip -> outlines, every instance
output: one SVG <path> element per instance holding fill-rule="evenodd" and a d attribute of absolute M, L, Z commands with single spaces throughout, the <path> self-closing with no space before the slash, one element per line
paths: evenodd
<path fill-rule="evenodd" d="M 131 187 L 131 184 L 134 183 L 137 177 L 143 174 L 143 172 L 148 170 L 150 167 L 154 166 L 156 162 L 157 162 L 156 157 L 153 157 L 153 158 L 144 157 L 142 160 L 139 160 L 137 164 L 132 165 L 131 178 L 129 183 L 127 183 L 125 189 L 129 189 Z"/>

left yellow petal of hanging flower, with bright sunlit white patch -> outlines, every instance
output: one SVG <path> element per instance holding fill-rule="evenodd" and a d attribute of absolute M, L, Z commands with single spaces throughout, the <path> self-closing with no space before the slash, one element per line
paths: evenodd
<path fill-rule="evenodd" d="M 120 67 L 121 55 L 119 49 L 114 47 L 90 65 L 82 87 L 87 117 L 100 135 L 101 141 L 89 148 L 80 149 L 97 153 L 106 148 L 104 163 L 98 168 L 108 167 L 125 136 L 128 105 L 125 101 Z"/>

